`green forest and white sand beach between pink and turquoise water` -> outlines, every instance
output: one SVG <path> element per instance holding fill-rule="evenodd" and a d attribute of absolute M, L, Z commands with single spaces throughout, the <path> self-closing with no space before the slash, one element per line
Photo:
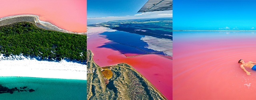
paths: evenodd
<path fill-rule="evenodd" d="M 86 80 L 86 35 L 45 30 L 33 18 L 5 19 L 0 20 L 0 76 Z"/>

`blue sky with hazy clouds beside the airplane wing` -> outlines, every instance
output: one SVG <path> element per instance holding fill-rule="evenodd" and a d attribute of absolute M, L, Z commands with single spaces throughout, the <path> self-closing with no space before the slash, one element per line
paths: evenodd
<path fill-rule="evenodd" d="M 171 11 L 137 13 L 148 0 L 87 0 L 87 24 L 111 20 L 172 17 Z"/>

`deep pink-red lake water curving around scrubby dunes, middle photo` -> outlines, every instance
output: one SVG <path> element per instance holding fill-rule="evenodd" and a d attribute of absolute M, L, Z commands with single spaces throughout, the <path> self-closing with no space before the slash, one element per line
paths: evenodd
<path fill-rule="evenodd" d="M 94 30 L 102 30 L 102 28 L 88 30 L 87 49 L 92 50 L 93 59 L 99 66 L 127 63 L 145 76 L 166 98 L 172 99 L 172 60 L 157 54 L 127 58 L 124 54 L 113 50 L 114 48 L 98 48 L 112 42 L 102 38 L 103 36 L 100 37 L 102 32 L 93 32 Z"/>

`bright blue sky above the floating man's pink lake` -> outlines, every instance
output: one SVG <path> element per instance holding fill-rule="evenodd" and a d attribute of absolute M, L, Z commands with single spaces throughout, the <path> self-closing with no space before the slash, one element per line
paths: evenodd
<path fill-rule="evenodd" d="M 256 0 L 173 0 L 173 30 L 256 30 Z"/>

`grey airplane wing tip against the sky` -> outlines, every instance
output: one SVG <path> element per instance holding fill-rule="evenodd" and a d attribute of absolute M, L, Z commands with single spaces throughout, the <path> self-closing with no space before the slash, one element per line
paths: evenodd
<path fill-rule="evenodd" d="M 172 0 L 148 0 L 138 12 L 172 10 Z"/>

